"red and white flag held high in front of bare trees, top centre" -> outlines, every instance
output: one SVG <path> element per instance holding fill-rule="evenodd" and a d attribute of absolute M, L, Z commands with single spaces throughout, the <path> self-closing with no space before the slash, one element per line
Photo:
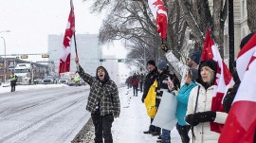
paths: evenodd
<path fill-rule="evenodd" d="M 157 32 L 162 39 L 165 39 L 167 32 L 167 12 L 164 3 L 162 0 L 148 0 L 148 4 L 155 18 Z"/>

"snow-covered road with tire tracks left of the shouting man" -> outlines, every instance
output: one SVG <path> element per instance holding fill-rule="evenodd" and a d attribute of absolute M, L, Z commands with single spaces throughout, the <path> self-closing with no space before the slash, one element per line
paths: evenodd
<path fill-rule="evenodd" d="M 90 117 L 87 96 L 84 86 L 1 93 L 0 142 L 70 142 Z"/>

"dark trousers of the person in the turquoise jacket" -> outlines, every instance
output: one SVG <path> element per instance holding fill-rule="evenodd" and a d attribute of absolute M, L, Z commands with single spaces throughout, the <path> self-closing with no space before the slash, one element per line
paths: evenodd
<path fill-rule="evenodd" d="M 178 134 L 181 137 L 182 143 L 189 143 L 190 142 L 190 137 L 189 137 L 189 131 L 191 129 L 191 126 L 185 125 L 181 126 L 178 123 L 176 124 L 176 129 L 178 131 Z"/>

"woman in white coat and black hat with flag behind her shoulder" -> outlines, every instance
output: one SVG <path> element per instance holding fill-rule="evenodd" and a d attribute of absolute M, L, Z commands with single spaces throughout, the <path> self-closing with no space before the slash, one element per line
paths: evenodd
<path fill-rule="evenodd" d="M 199 85 L 192 89 L 185 119 L 196 126 L 194 129 L 197 137 L 192 134 L 192 140 L 217 142 L 228 116 L 224 112 L 222 99 L 234 81 L 210 38 L 210 30 L 207 31 L 198 70 Z"/>

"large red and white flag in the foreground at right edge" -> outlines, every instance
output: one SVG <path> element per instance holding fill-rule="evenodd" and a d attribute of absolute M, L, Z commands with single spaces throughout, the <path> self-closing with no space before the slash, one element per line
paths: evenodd
<path fill-rule="evenodd" d="M 256 131 L 256 34 L 241 49 L 236 67 L 241 83 L 219 143 L 253 143 Z"/>

